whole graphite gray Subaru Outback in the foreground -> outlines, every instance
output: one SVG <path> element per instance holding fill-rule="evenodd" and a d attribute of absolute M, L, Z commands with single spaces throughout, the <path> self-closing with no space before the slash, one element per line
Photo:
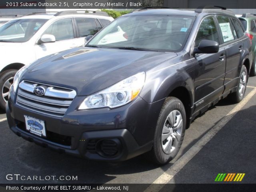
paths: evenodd
<path fill-rule="evenodd" d="M 138 10 L 85 47 L 20 69 L 8 124 L 30 142 L 90 160 L 148 153 L 166 164 L 195 116 L 226 96 L 244 98 L 251 63 L 250 40 L 229 10 Z"/>

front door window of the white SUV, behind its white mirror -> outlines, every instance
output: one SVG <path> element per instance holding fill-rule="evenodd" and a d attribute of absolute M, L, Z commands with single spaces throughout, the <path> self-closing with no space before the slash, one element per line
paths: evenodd
<path fill-rule="evenodd" d="M 70 18 L 58 20 L 51 24 L 44 34 L 54 35 L 56 41 L 74 38 L 72 20 Z"/>

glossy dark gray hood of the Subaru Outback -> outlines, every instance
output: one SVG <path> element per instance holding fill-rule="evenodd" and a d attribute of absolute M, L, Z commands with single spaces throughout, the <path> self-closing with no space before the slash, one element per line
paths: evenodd
<path fill-rule="evenodd" d="M 85 96 L 175 56 L 176 53 L 74 48 L 34 62 L 22 79 L 72 88 L 77 95 Z"/>

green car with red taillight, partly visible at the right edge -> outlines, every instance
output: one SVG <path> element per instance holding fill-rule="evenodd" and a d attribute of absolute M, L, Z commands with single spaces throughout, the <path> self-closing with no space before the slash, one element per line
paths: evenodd
<path fill-rule="evenodd" d="M 256 76 L 256 14 L 244 13 L 239 17 L 239 20 L 252 43 L 252 69 L 250 75 Z"/>

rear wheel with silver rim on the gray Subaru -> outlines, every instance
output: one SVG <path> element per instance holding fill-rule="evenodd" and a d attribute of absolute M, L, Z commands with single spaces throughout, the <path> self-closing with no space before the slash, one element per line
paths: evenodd
<path fill-rule="evenodd" d="M 236 92 L 233 92 L 232 94 L 229 95 L 229 98 L 233 102 L 239 103 L 240 101 L 243 100 L 244 94 L 246 91 L 247 80 L 248 80 L 247 70 L 246 70 L 246 67 L 243 65 L 240 72 Z"/>

